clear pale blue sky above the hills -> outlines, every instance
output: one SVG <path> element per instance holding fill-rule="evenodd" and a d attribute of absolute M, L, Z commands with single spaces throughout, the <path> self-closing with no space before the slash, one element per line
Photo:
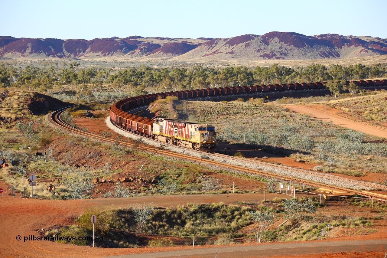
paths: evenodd
<path fill-rule="evenodd" d="M 387 0 L 0 0 L 0 6 L 0 36 L 16 38 L 228 38 L 271 31 L 387 38 Z"/>

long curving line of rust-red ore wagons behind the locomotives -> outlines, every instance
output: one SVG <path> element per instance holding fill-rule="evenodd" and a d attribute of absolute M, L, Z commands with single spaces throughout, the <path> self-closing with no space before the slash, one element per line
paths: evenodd
<path fill-rule="evenodd" d="M 387 86 L 387 80 L 366 80 L 366 81 L 353 81 L 360 87 L 372 87 L 372 86 Z M 350 81 L 345 81 L 346 85 Z M 153 135 L 153 124 L 156 120 L 140 117 L 134 114 L 127 113 L 127 110 L 131 110 L 136 107 L 150 105 L 157 99 L 163 99 L 167 96 L 176 96 L 179 99 L 191 99 L 191 98 L 203 98 L 211 96 L 229 96 L 248 93 L 261 93 L 261 92 L 276 92 L 276 91 L 296 91 L 296 90 L 309 90 L 309 89 L 325 89 L 325 82 L 322 83 L 295 83 L 295 84 L 274 84 L 274 85 L 255 85 L 255 86 L 237 86 L 237 87 L 225 87 L 225 88 L 212 88 L 212 89 L 191 89 L 185 91 L 170 91 L 162 93 L 153 93 L 141 96 L 135 96 L 131 98 L 125 98 L 114 103 L 110 107 L 110 119 L 117 126 L 139 134 L 148 138 L 155 138 Z M 173 122 L 173 121 L 171 121 Z M 176 121 L 177 122 L 177 121 Z M 179 121 L 181 122 L 181 121 Z M 185 122 L 183 122 L 185 123 Z M 189 124 L 189 123 L 187 123 Z M 177 142 L 171 142 L 171 139 L 167 139 L 167 142 L 176 144 Z M 197 147 L 199 148 L 199 147 Z M 200 144 L 200 149 L 202 148 Z"/>

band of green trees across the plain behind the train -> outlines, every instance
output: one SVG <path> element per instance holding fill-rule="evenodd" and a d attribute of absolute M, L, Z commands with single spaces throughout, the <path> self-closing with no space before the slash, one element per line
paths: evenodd
<path fill-rule="evenodd" d="M 0 87 L 23 87 L 39 91 L 60 91 L 69 84 L 94 84 L 92 91 L 103 84 L 119 89 L 123 85 L 135 88 L 135 94 L 176 91 L 197 88 L 249 86 L 255 84 L 303 83 L 318 81 L 359 80 L 387 76 L 386 64 L 330 65 L 312 64 L 305 67 L 247 67 L 225 68 L 194 65 L 188 68 L 157 68 L 140 66 L 125 69 L 88 67 L 72 62 L 67 67 L 51 65 L 43 68 L 0 64 Z"/>

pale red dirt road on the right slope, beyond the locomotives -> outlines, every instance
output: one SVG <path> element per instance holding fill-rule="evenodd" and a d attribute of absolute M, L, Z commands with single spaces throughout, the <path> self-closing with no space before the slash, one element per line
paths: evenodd
<path fill-rule="evenodd" d="M 323 112 L 321 110 L 316 110 L 313 108 L 308 108 L 305 106 L 284 106 L 293 112 L 303 113 L 303 114 L 311 114 L 315 119 L 323 120 L 326 122 L 332 122 L 332 124 L 336 124 L 338 126 L 347 127 L 349 129 L 353 129 L 356 131 L 364 132 L 366 134 L 371 134 L 381 138 L 387 138 L 387 130 L 380 129 L 373 126 L 368 126 L 366 124 L 362 124 L 353 120 L 348 120 L 337 115 L 329 114 L 327 112 Z"/>

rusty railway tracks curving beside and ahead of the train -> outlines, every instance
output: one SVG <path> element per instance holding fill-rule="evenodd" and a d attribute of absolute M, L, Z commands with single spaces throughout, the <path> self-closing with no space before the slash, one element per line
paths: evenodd
<path fill-rule="evenodd" d="M 80 134 L 82 136 L 98 139 L 100 141 L 105 141 L 105 142 L 109 142 L 109 143 L 115 143 L 116 142 L 113 139 L 105 138 L 103 136 L 99 136 L 97 134 L 92 134 L 90 132 L 84 132 L 84 131 L 81 131 L 79 129 L 75 129 L 74 127 L 68 126 L 65 122 L 63 122 L 63 120 L 60 117 L 60 115 L 67 108 L 69 108 L 69 107 L 62 108 L 60 110 L 52 112 L 50 114 L 50 116 L 49 116 L 50 122 L 55 124 L 55 125 L 57 125 L 58 127 L 62 128 L 62 129 L 66 129 L 66 130 L 75 132 L 75 133 Z M 117 127 L 117 128 L 121 129 L 120 127 Z M 142 136 L 139 136 L 137 134 L 134 134 L 134 135 L 138 136 L 138 137 L 142 137 Z M 146 138 L 146 139 L 149 140 L 149 138 Z M 158 141 L 155 141 L 155 142 L 157 142 L 159 144 Z M 122 145 L 122 146 L 127 146 L 127 147 L 132 147 L 133 146 L 133 144 L 127 143 L 127 142 L 123 142 L 123 141 L 119 141 L 118 143 L 120 145 Z M 293 182 L 299 182 L 299 183 L 307 184 L 307 185 L 313 186 L 313 187 L 333 188 L 333 189 L 342 190 L 342 191 L 348 191 L 349 190 L 349 189 L 344 188 L 344 187 L 332 186 L 332 185 L 329 185 L 329 184 L 322 184 L 322 183 L 319 183 L 319 182 L 308 181 L 308 180 L 299 179 L 299 178 L 296 178 L 296 177 L 290 177 L 290 176 L 286 176 L 286 175 L 279 175 L 279 174 L 275 174 L 275 173 L 272 173 L 272 172 L 261 171 L 261 170 L 256 170 L 256 169 L 250 169 L 250 168 L 241 167 L 241 166 L 238 166 L 238 165 L 231 165 L 231 164 L 228 164 L 228 163 L 218 162 L 218 161 L 215 161 L 215 160 L 209 160 L 209 159 L 203 159 L 203 158 L 199 158 L 199 157 L 188 156 L 188 155 L 185 155 L 183 153 L 176 153 L 176 152 L 169 151 L 169 150 L 159 150 L 157 148 L 149 147 L 149 146 L 142 146 L 142 148 L 145 151 L 149 151 L 149 152 L 155 153 L 155 154 L 167 155 L 167 156 L 175 157 L 175 158 L 178 158 L 178 159 L 190 160 L 192 162 L 200 162 L 200 163 L 204 163 L 204 164 L 209 164 L 209 165 L 214 165 L 214 166 L 218 166 L 218 167 L 223 167 L 223 168 L 226 168 L 226 169 L 239 170 L 239 171 L 247 172 L 247 173 L 250 173 L 250 174 L 256 174 L 256 175 L 261 175 L 261 176 L 265 176 L 265 177 L 273 177 L 273 178 L 281 178 L 281 179 L 284 179 L 284 180 L 291 180 Z M 182 148 L 182 150 L 187 150 L 187 149 Z M 192 150 L 192 151 L 194 151 L 194 150 Z M 197 152 L 200 153 L 200 151 L 197 151 Z M 373 184 L 373 183 L 370 183 L 370 182 L 356 181 L 356 180 L 346 179 L 346 178 L 342 178 L 342 177 L 338 177 L 338 176 L 334 176 L 334 175 L 326 175 L 326 174 L 321 174 L 321 173 L 307 171 L 307 170 L 300 170 L 300 169 L 284 167 L 284 166 L 281 166 L 281 165 L 275 165 L 275 164 L 259 162 L 259 161 L 255 161 L 255 160 L 247 160 L 247 159 L 242 159 L 242 158 L 237 158 L 237 157 L 230 157 L 230 156 L 219 154 L 219 153 L 214 153 L 214 154 L 211 154 L 211 155 L 214 155 L 216 157 L 221 157 L 221 158 L 238 160 L 238 161 L 242 161 L 242 162 L 245 162 L 245 163 L 247 162 L 247 163 L 260 164 L 260 165 L 264 165 L 266 167 L 271 167 L 271 168 L 280 168 L 280 169 L 283 169 L 283 170 L 288 170 L 288 171 L 293 171 L 293 172 L 296 171 L 296 172 L 301 173 L 301 174 L 313 173 L 313 174 L 318 174 L 318 175 L 320 175 L 322 177 L 327 177 L 327 178 L 332 178 L 332 179 L 334 178 L 334 180 L 342 180 L 342 181 L 346 181 L 346 182 L 351 181 L 351 182 L 353 182 L 355 184 L 358 184 L 360 186 L 359 188 L 372 187 L 372 188 L 375 188 L 375 189 L 386 189 L 387 190 L 387 187 L 385 187 L 385 186 L 381 186 L 381 185 L 378 185 L 378 184 Z M 364 193 L 362 191 L 352 190 L 352 189 L 350 191 L 353 192 L 354 194 L 359 194 L 361 196 L 367 196 L 369 198 L 374 198 L 375 200 L 387 202 L 387 198 L 381 197 L 378 194 Z"/>

